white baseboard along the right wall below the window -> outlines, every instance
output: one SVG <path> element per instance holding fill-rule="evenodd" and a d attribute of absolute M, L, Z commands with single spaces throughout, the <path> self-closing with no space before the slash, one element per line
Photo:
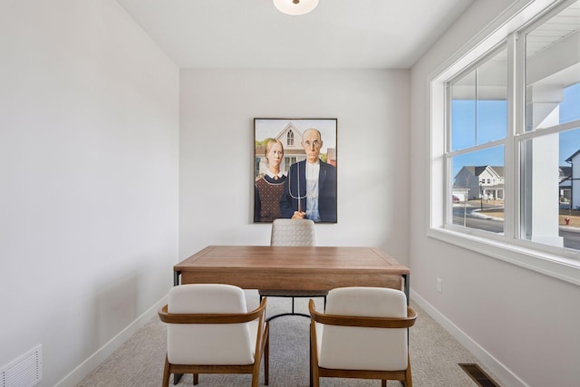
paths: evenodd
<path fill-rule="evenodd" d="M 488 353 L 482 346 L 475 342 L 468 334 L 461 331 L 444 314 L 430 305 L 424 298 L 411 289 L 411 300 L 420 306 L 427 314 L 433 318 L 443 329 L 445 329 L 455 340 L 472 353 L 481 364 L 492 372 L 502 386 L 509 387 L 529 387 L 526 382 L 517 377 L 503 363 L 500 363 L 491 353 Z"/>

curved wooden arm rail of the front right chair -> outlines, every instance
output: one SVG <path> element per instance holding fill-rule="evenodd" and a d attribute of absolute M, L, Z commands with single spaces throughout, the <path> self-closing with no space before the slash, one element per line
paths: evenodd
<path fill-rule="evenodd" d="M 415 324 L 417 313 L 407 306 L 407 317 L 362 317 L 316 312 L 314 300 L 308 303 L 311 318 L 321 324 L 341 326 L 361 326 L 366 328 L 408 328 Z"/>

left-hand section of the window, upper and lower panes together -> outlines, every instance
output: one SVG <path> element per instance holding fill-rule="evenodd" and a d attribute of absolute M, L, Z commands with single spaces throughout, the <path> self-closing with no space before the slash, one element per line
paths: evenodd
<path fill-rule="evenodd" d="M 447 152 L 452 196 L 449 223 L 503 233 L 504 187 L 491 185 L 502 176 L 507 137 L 507 48 L 490 53 L 448 84 L 451 143 Z"/>

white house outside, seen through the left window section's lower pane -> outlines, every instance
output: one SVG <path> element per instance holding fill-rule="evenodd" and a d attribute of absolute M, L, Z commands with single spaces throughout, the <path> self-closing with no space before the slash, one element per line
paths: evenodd
<path fill-rule="evenodd" d="M 504 168 L 484 165 L 459 170 L 453 183 L 453 195 L 460 200 L 504 198 Z"/>

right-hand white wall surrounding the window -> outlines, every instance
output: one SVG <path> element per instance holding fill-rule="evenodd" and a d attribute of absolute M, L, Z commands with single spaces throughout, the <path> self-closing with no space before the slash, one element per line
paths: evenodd
<path fill-rule="evenodd" d="M 580 288 L 426 236 L 430 127 L 427 80 L 469 39 L 527 1 L 477 1 L 411 69 L 412 295 L 504 386 L 574 386 L 580 378 Z M 511 12 L 513 14 L 513 12 Z M 467 44 L 467 45 L 465 45 Z M 465 46 L 464 46 L 465 45 Z M 437 177 L 433 177 L 437 179 Z M 443 280 L 442 292 L 436 281 Z"/>

